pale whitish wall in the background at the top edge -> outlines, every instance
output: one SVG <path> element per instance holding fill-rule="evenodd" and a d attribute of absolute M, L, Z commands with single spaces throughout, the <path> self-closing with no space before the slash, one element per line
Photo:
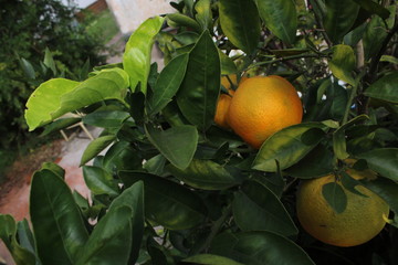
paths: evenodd
<path fill-rule="evenodd" d="M 106 0 L 123 34 L 135 31 L 146 19 L 175 12 L 172 0 Z M 176 0 L 174 0 L 176 1 Z M 177 1 L 176 1 L 177 2 Z"/>

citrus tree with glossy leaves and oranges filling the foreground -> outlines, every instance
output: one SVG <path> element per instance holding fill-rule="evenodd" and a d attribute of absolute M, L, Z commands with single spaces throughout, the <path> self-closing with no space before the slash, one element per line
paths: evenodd
<path fill-rule="evenodd" d="M 104 129 L 90 200 L 45 163 L 31 227 L 0 215 L 17 263 L 397 264 L 397 2 L 171 4 L 122 63 L 28 100 L 31 130 Z"/>

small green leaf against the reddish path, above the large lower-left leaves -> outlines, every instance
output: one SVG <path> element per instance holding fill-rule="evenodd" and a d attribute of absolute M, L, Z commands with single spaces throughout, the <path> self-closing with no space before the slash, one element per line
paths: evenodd
<path fill-rule="evenodd" d="M 117 183 L 105 169 L 84 166 L 83 177 L 84 182 L 94 195 L 108 194 L 109 197 L 117 197 L 119 194 Z"/>

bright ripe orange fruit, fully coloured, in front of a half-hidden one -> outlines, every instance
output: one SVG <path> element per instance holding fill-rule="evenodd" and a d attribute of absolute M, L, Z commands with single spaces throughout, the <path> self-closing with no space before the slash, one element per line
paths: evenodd
<path fill-rule="evenodd" d="M 300 124 L 303 107 L 297 92 L 281 76 L 255 76 L 240 83 L 228 110 L 233 131 L 254 148 L 284 127 Z"/>

